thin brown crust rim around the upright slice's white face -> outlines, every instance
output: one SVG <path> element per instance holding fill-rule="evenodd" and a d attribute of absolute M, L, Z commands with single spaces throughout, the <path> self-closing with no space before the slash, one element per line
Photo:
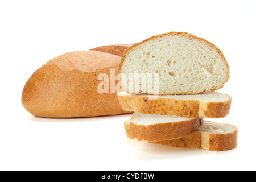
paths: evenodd
<path fill-rule="evenodd" d="M 189 34 L 189 33 L 187 33 L 187 32 L 175 32 L 175 31 L 167 32 L 167 33 L 165 33 L 165 34 L 159 34 L 159 35 L 151 36 L 150 38 L 145 39 L 145 40 L 143 40 L 142 42 L 133 44 L 133 46 L 127 48 L 127 49 L 125 50 L 125 52 L 123 53 L 123 57 L 122 57 L 122 60 L 121 60 L 120 65 L 119 65 L 119 73 L 122 73 L 123 62 L 125 61 L 125 58 L 126 58 L 126 56 L 128 55 L 129 51 L 131 51 L 131 50 L 134 49 L 135 47 L 139 46 L 140 44 L 146 43 L 146 42 L 148 42 L 148 41 L 150 41 L 150 40 L 152 40 L 152 39 L 157 39 L 157 38 L 160 38 L 160 37 L 163 37 L 163 36 L 168 36 L 168 35 L 182 35 L 182 36 L 187 36 L 187 37 L 192 38 L 192 39 L 198 39 L 198 40 L 200 40 L 200 41 L 202 41 L 202 42 L 204 42 L 204 43 L 209 44 L 210 47 L 216 49 L 217 52 L 218 52 L 218 54 L 219 54 L 219 55 L 222 57 L 222 59 L 225 61 L 225 64 L 226 64 L 226 68 L 227 68 L 227 70 L 228 70 L 228 73 L 227 73 L 227 76 L 226 76 L 226 78 L 225 78 L 225 81 L 222 83 L 222 85 L 221 85 L 219 88 L 209 89 L 209 90 L 211 90 L 211 91 L 216 91 L 216 90 L 221 89 L 221 88 L 224 86 L 224 84 L 225 84 L 225 83 L 228 81 L 228 79 L 229 79 L 229 74 L 230 74 L 230 73 L 229 73 L 229 65 L 228 65 L 228 62 L 226 61 L 226 58 L 224 57 L 222 51 L 221 51 L 218 47 L 216 47 L 213 43 L 209 42 L 208 40 L 205 40 L 205 39 L 203 39 L 203 38 L 199 38 L 199 37 L 197 37 L 197 36 L 195 36 L 195 35 L 192 35 L 192 34 Z M 208 88 L 206 88 L 205 90 L 207 90 L 207 89 L 208 89 Z M 199 92 L 199 93 L 202 93 L 202 92 L 204 92 L 205 90 L 201 90 L 201 92 Z M 127 90 L 125 90 L 125 91 L 127 91 Z M 130 93 L 131 93 L 131 92 L 130 92 Z M 184 94 L 199 94 L 199 93 L 181 92 L 181 93 L 179 93 L 179 94 L 180 94 L 180 95 L 184 95 Z M 147 94 L 151 94 L 151 95 L 152 95 L 152 94 L 154 94 L 154 93 L 147 93 Z M 163 95 L 163 96 L 164 96 L 164 95 L 168 95 L 168 94 L 176 94 L 176 93 L 166 93 L 166 94 L 159 93 L 159 95 Z"/>

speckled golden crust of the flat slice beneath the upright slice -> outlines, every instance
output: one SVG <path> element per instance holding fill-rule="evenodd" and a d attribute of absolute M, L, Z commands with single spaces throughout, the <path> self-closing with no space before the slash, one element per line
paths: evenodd
<path fill-rule="evenodd" d="M 144 114 L 177 115 L 183 117 L 224 118 L 229 114 L 232 98 L 225 102 L 178 100 L 173 98 L 148 99 L 136 94 L 117 94 L 123 110 Z"/>

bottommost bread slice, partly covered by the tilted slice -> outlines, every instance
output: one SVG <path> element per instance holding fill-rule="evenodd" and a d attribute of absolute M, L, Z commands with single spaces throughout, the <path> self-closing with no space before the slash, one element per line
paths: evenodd
<path fill-rule="evenodd" d="M 237 147 L 237 137 L 238 129 L 236 126 L 204 121 L 203 125 L 186 137 L 154 143 L 174 147 L 225 151 Z"/>

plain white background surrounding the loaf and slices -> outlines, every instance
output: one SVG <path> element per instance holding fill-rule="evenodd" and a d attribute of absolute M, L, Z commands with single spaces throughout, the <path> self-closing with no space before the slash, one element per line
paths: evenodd
<path fill-rule="evenodd" d="M 256 1 L 1 1 L 1 170 L 255 170 Z M 210 152 L 126 137 L 130 114 L 46 119 L 21 104 L 28 78 L 53 57 L 184 31 L 216 44 L 230 67 L 234 150 Z"/>

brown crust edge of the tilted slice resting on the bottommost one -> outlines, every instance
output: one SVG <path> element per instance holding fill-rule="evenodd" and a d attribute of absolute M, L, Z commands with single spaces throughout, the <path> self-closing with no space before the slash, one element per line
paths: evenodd
<path fill-rule="evenodd" d="M 129 120 L 125 122 L 126 135 L 130 139 L 156 142 L 185 137 L 203 123 L 203 118 L 191 118 L 182 122 L 159 123 L 156 125 L 138 125 Z"/>

